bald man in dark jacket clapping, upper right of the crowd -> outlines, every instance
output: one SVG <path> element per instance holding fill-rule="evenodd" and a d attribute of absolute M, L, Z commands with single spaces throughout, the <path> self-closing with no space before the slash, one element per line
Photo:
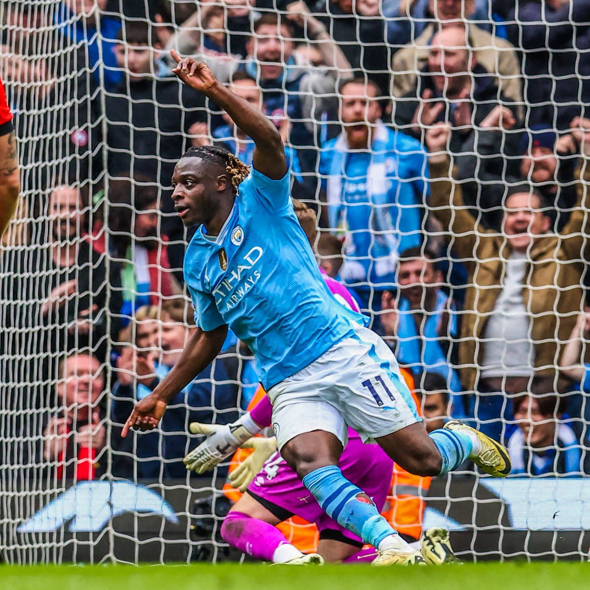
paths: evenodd
<path fill-rule="evenodd" d="M 427 64 L 420 70 L 414 88 L 395 102 L 396 125 L 417 139 L 423 140 L 424 127 L 441 121 L 450 123 L 453 133 L 448 147 L 453 154 L 478 152 L 478 131 L 474 127 L 497 127 L 496 120 L 486 121 L 496 107 L 507 105 L 513 112 L 516 110 L 499 93 L 494 78 L 467 42 L 462 23 L 449 24 L 435 34 Z M 516 134 L 504 137 L 502 154 L 516 155 L 518 142 Z"/>

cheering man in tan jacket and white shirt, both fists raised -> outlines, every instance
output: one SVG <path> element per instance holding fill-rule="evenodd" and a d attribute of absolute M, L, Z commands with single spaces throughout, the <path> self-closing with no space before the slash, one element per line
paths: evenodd
<path fill-rule="evenodd" d="M 576 120 L 573 137 L 590 158 L 590 120 Z M 533 375 L 555 376 L 555 362 L 582 309 L 582 251 L 588 232 L 584 166 L 578 203 L 562 234 L 548 234 L 543 196 L 530 185 L 507 190 L 501 234 L 484 230 L 468 214 L 460 185 L 449 181 L 445 153 L 450 129 L 428 130 L 431 201 L 448 228 L 455 256 L 468 271 L 459 365 L 466 389 L 477 389 L 480 429 L 499 439 L 500 418 L 512 419 L 506 394 L 528 391 Z"/>

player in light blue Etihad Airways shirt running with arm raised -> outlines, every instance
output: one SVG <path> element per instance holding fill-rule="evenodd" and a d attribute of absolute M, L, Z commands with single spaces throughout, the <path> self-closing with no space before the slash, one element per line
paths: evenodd
<path fill-rule="evenodd" d="M 205 64 L 173 56 L 176 75 L 254 140 L 253 169 L 217 148 L 190 149 L 176 165 L 175 210 L 185 225 L 198 225 L 184 272 L 199 329 L 168 376 L 137 403 L 123 435 L 156 427 L 169 399 L 217 356 L 230 326 L 254 353 L 280 453 L 322 510 L 377 549 L 375 565 L 424 563 L 340 471 L 348 427 L 424 476 L 448 473 L 471 458 L 484 472 L 505 477 L 506 450 L 457 421 L 427 434 L 386 343 L 365 327 L 366 317 L 333 298 L 320 276 L 293 211 L 276 127 Z M 211 445 L 204 453 L 225 453 L 251 435 L 240 423 L 226 434 L 225 447 Z"/>

